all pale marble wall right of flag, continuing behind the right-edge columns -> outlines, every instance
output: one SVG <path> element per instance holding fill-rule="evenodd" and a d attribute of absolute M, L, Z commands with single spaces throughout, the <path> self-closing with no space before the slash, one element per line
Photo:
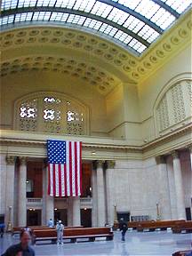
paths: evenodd
<path fill-rule="evenodd" d="M 191 170 L 188 152 L 180 153 L 185 207 L 190 207 Z M 163 172 L 163 173 L 161 173 Z M 117 212 L 149 215 L 156 220 L 156 203 L 161 220 L 175 220 L 177 216 L 172 156 L 166 157 L 164 170 L 156 164 L 156 158 L 147 160 L 116 161 L 108 174 L 108 222 L 113 223 L 114 205 Z"/>

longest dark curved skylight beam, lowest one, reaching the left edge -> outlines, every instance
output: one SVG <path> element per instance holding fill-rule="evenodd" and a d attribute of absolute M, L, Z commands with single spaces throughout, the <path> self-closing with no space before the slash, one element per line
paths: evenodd
<path fill-rule="evenodd" d="M 50 7 L 50 6 L 23 7 L 23 8 L 18 8 L 18 9 L 10 9 L 10 10 L 2 11 L 0 14 L 0 17 L 5 17 L 8 15 L 16 15 L 17 13 L 24 13 L 24 12 L 63 12 L 63 13 L 68 13 L 68 14 L 84 16 L 84 17 L 90 18 L 92 20 L 98 20 L 103 23 L 106 23 L 113 28 L 117 28 L 117 29 L 123 31 L 124 33 L 126 33 L 127 35 L 132 36 L 133 38 L 137 39 L 141 44 L 144 44 L 147 47 L 150 45 L 142 37 L 140 37 L 137 34 L 135 34 L 134 32 L 132 32 L 132 30 L 124 28 L 123 26 L 116 24 L 116 22 L 114 22 L 112 20 L 107 20 L 103 17 L 97 16 L 97 15 L 89 13 L 89 12 L 72 10 L 72 9 L 68 9 L 68 8 Z"/>

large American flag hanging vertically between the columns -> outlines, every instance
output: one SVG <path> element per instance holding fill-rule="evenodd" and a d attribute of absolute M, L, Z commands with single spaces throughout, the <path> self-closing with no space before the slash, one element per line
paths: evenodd
<path fill-rule="evenodd" d="M 82 142 L 47 140 L 48 194 L 80 196 L 82 187 Z"/>

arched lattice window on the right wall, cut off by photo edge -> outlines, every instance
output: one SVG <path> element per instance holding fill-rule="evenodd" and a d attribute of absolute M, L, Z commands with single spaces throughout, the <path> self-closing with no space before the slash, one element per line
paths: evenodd
<path fill-rule="evenodd" d="M 155 109 L 156 132 L 172 129 L 175 125 L 185 124 L 191 117 L 192 80 L 183 79 L 168 85 L 168 89 L 160 96 Z M 184 122 L 184 123 L 183 123 Z M 168 130 L 170 131 L 170 130 Z"/>

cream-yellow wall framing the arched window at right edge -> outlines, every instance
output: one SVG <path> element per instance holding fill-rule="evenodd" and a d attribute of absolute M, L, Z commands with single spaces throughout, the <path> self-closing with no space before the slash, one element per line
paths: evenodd
<path fill-rule="evenodd" d="M 154 140 L 156 138 L 154 106 L 159 93 L 167 85 L 177 81 L 177 79 L 190 77 L 191 46 L 189 45 L 185 50 L 169 60 L 153 76 L 139 84 L 140 121 L 142 123 L 143 140 Z"/>

